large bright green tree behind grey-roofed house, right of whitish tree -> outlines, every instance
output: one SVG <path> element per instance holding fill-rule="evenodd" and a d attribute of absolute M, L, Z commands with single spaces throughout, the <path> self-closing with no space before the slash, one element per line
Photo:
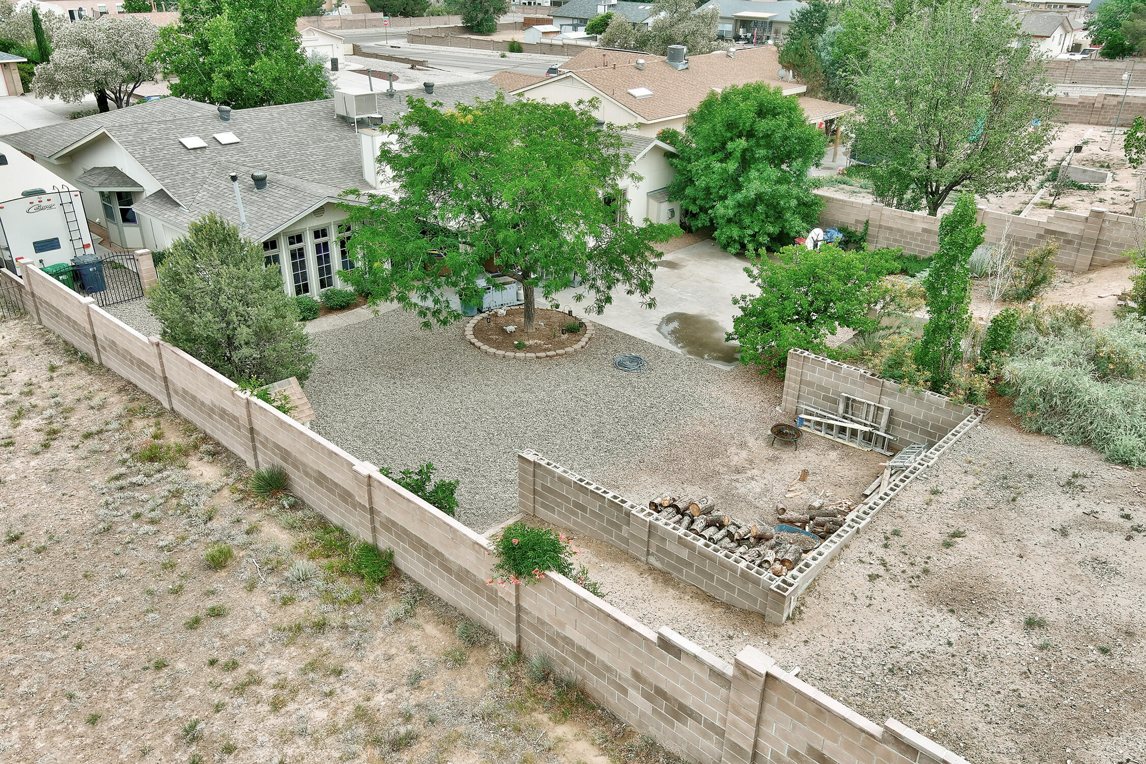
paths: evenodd
<path fill-rule="evenodd" d="M 327 97 L 322 65 L 299 48 L 297 11 L 277 0 L 183 0 L 154 54 L 178 80 L 171 94 L 236 109 Z"/>

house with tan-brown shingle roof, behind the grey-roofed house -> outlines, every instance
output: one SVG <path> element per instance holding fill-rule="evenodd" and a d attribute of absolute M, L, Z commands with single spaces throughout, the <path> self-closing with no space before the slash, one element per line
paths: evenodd
<path fill-rule="evenodd" d="M 808 123 L 831 129 L 834 120 L 853 107 L 808 99 L 801 82 L 782 79 L 776 49 L 769 46 L 717 50 L 688 58 L 680 46 L 681 61 L 631 50 L 595 48 L 564 64 L 556 74 L 534 76 L 499 72 L 493 81 L 519 97 L 576 103 L 596 97 L 597 117 L 615 125 L 635 125 L 634 132 L 656 137 L 666 127 L 684 128 L 689 112 L 713 90 L 730 85 L 768 82 L 795 96 Z"/>

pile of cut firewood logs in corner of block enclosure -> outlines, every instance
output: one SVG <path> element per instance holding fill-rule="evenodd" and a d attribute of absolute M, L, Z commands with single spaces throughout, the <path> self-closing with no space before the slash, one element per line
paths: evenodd
<path fill-rule="evenodd" d="M 784 505 L 778 507 L 779 522 L 808 533 L 775 531 L 737 520 L 716 512 L 716 502 L 711 496 L 704 498 L 678 498 L 662 494 L 649 502 L 649 509 L 684 534 L 700 536 L 717 548 L 732 552 L 749 565 L 783 576 L 800 564 L 807 552 L 816 549 L 821 539 L 835 533 L 843 525 L 854 507 L 851 499 L 842 499 L 827 505 L 815 499 L 804 512 L 790 512 Z"/>

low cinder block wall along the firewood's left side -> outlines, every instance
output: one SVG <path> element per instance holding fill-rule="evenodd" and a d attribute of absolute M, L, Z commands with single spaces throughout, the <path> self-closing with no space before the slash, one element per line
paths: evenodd
<path fill-rule="evenodd" d="M 682 534 L 647 506 L 594 483 L 535 451 L 521 451 L 518 510 L 628 552 L 658 570 L 772 623 L 784 622 L 785 598 L 759 572 L 715 544 Z"/>

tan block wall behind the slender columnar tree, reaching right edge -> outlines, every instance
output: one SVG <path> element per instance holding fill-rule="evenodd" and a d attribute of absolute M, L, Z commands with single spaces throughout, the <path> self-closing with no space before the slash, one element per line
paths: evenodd
<path fill-rule="evenodd" d="M 863 229 L 869 222 L 868 243 L 872 246 L 902 246 L 904 252 L 929 257 L 939 250 L 939 218 L 923 212 L 905 212 L 882 204 L 848 199 L 817 191 L 824 200 L 819 222 L 824 227 L 848 226 Z M 984 238 L 998 244 L 1004 231 L 1022 253 L 1054 237 L 1059 254 L 1054 259 L 1062 270 L 1083 273 L 1091 268 L 1125 262 L 1122 253 L 1140 246 L 1143 226 L 1130 215 L 1118 215 L 1101 207 L 1088 214 L 1057 211 L 1046 220 L 1033 220 L 997 210 L 979 207 L 978 220 L 987 225 Z"/>

